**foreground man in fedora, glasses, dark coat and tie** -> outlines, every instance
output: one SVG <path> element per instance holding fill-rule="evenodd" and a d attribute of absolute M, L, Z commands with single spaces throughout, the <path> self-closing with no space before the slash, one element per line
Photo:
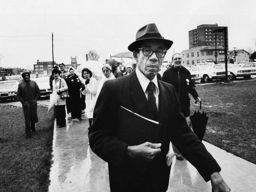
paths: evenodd
<path fill-rule="evenodd" d="M 155 24 L 137 31 L 128 46 L 137 68 L 128 76 L 106 81 L 89 130 L 91 149 L 109 165 L 111 192 L 165 192 L 171 167 L 170 141 L 216 192 L 229 192 L 220 167 L 188 127 L 174 87 L 157 80 L 166 51 Z"/>

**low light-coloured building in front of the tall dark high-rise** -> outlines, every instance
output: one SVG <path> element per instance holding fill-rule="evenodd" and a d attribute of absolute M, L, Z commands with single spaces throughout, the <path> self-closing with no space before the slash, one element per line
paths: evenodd
<path fill-rule="evenodd" d="M 193 66 L 198 63 L 213 62 L 216 63 L 217 53 L 217 63 L 225 63 L 224 48 L 222 46 L 197 46 L 192 47 L 188 50 L 182 51 L 183 66 Z"/>

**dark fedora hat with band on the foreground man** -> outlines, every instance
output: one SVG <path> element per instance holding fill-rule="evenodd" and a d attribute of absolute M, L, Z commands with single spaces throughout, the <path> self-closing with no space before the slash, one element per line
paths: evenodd
<path fill-rule="evenodd" d="M 134 41 L 128 46 L 128 50 L 133 52 L 134 50 L 139 48 L 139 46 L 143 42 L 146 42 L 147 40 L 151 40 L 151 39 L 164 43 L 166 50 L 168 50 L 174 43 L 173 41 L 165 39 L 164 37 L 161 36 L 155 23 L 150 23 L 140 28 L 137 31 L 136 41 Z"/>

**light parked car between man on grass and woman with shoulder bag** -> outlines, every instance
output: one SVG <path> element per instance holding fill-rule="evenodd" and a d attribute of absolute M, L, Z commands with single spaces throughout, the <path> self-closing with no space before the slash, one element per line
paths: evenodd
<path fill-rule="evenodd" d="M 49 84 L 49 76 L 46 77 L 38 77 L 31 78 L 31 80 L 37 82 L 37 85 L 40 89 L 40 97 L 49 97 L 52 93 L 50 84 Z"/>

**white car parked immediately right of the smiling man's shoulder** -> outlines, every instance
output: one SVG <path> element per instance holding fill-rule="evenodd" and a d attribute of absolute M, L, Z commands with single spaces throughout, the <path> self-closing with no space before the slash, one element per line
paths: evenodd
<path fill-rule="evenodd" d="M 212 79 L 224 79 L 225 76 L 225 68 L 218 67 L 216 65 L 199 65 L 192 67 L 191 71 L 198 71 L 200 74 L 200 78 L 204 82 L 210 82 Z M 230 73 L 228 71 L 228 77 Z"/>

